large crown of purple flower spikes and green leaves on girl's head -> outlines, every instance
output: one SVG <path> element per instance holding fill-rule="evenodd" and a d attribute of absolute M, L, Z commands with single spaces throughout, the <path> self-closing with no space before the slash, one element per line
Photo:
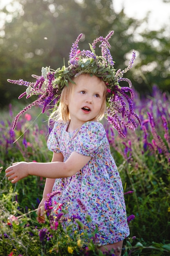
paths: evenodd
<path fill-rule="evenodd" d="M 71 52 L 69 55 L 68 67 L 65 65 L 60 69 L 52 70 L 50 67 L 42 67 L 42 75 L 32 75 L 36 81 L 34 83 L 20 80 L 7 81 L 10 83 L 25 85 L 26 91 L 22 93 L 18 99 L 26 96 L 26 99 L 32 95 L 40 95 L 38 99 L 30 103 L 26 108 L 18 113 L 15 117 L 13 130 L 17 124 L 17 121 L 24 112 L 35 105 L 42 105 L 42 113 L 44 113 L 47 106 L 51 105 L 51 102 L 55 100 L 55 110 L 60 102 L 60 95 L 64 86 L 68 86 L 68 82 L 75 83 L 72 79 L 80 74 L 92 74 L 104 81 L 107 86 L 107 111 L 106 119 L 113 125 L 113 127 L 123 136 L 124 128 L 130 128 L 135 130 L 137 128 L 136 121 L 140 119 L 134 112 L 132 99 L 134 98 L 133 91 L 131 89 L 132 83 L 129 79 L 123 78 L 133 65 L 135 60 L 135 51 L 132 53 L 132 58 L 128 67 L 125 70 L 115 70 L 114 61 L 110 54 L 110 44 L 108 39 L 113 35 L 114 31 L 111 31 L 105 38 L 100 36 L 96 38 L 94 42 L 89 44 L 90 50 L 80 51 L 78 48 L 79 40 L 82 37 L 80 34 L 77 37 L 75 43 L 73 43 Z M 100 42 L 102 56 L 97 56 L 95 53 L 96 44 Z M 126 81 L 129 87 L 121 87 L 120 81 Z M 130 94 L 130 97 L 127 95 Z M 128 107 L 126 107 L 128 105 Z M 119 115 L 121 114 L 121 115 Z M 125 120 L 126 118 L 126 120 Z"/>

